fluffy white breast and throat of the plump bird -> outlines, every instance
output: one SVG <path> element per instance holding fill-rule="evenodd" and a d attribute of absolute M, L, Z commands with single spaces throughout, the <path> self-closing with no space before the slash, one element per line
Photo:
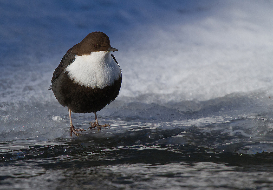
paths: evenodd
<path fill-rule="evenodd" d="M 120 75 L 120 67 L 108 51 L 92 52 L 90 55 L 76 55 L 65 71 L 75 83 L 86 87 L 104 88 L 112 85 Z"/>

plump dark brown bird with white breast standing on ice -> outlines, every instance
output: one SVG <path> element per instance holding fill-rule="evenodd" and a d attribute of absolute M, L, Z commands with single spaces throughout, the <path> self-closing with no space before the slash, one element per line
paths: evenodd
<path fill-rule="evenodd" d="M 118 51 L 110 45 L 109 37 L 103 32 L 92 32 L 81 42 L 70 48 L 51 80 L 58 102 L 68 108 L 70 137 L 81 135 L 72 124 L 71 112 L 94 113 L 95 121 L 90 128 L 107 127 L 99 125 L 97 111 L 110 104 L 118 96 L 121 87 L 121 68 L 111 52 Z"/>

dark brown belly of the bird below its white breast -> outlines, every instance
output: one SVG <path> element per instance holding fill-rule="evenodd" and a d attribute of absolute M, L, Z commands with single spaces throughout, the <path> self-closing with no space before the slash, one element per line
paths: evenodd
<path fill-rule="evenodd" d="M 121 76 L 111 86 L 103 89 L 81 86 L 61 74 L 52 83 L 52 90 L 62 106 L 74 113 L 91 113 L 101 110 L 117 98 L 121 86 Z"/>

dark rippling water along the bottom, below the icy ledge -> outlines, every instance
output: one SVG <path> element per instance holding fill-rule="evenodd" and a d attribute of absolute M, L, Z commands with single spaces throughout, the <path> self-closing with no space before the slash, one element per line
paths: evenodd
<path fill-rule="evenodd" d="M 1 150 L 1 189 L 273 188 L 273 154 L 266 152 L 152 143 L 94 148 L 22 140 L 1 144 Z"/>

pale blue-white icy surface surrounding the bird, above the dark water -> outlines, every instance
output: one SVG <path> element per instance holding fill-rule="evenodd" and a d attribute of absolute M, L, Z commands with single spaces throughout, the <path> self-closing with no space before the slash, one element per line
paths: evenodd
<path fill-rule="evenodd" d="M 122 69 L 117 100 L 98 112 L 111 129 L 73 141 L 272 151 L 272 8 L 254 0 L 0 1 L 0 139 L 71 141 L 67 108 L 48 90 L 52 73 L 69 48 L 102 31 Z M 72 117 L 84 129 L 94 120 Z"/>

